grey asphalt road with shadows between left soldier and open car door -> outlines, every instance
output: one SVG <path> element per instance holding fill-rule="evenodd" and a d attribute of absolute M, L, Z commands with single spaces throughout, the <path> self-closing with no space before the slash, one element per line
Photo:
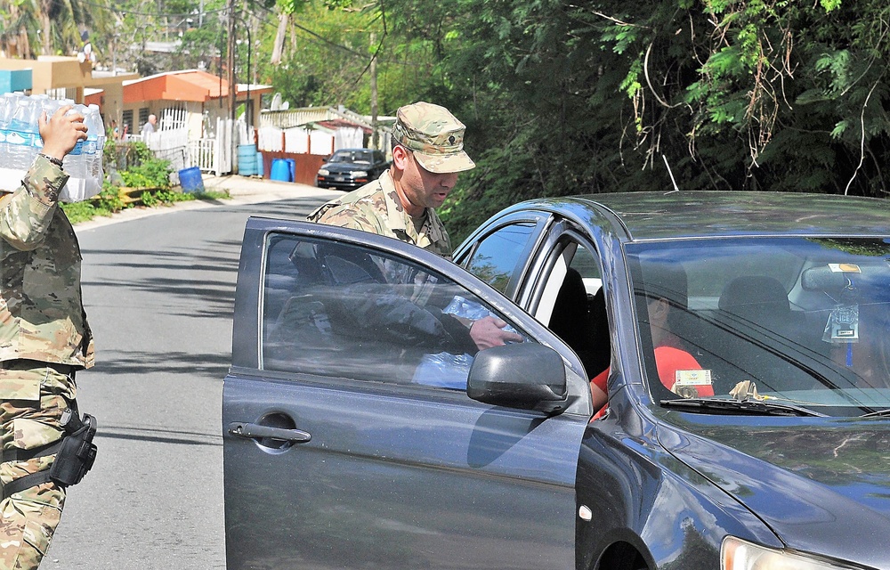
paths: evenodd
<path fill-rule="evenodd" d="M 221 405 L 240 242 L 247 216 L 302 218 L 324 198 L 297 194 L 77 228 L 97 349 L 78 402 L 98 419 L 99 455 L 69 489 L 41 570 L 225 567 Z"/>

